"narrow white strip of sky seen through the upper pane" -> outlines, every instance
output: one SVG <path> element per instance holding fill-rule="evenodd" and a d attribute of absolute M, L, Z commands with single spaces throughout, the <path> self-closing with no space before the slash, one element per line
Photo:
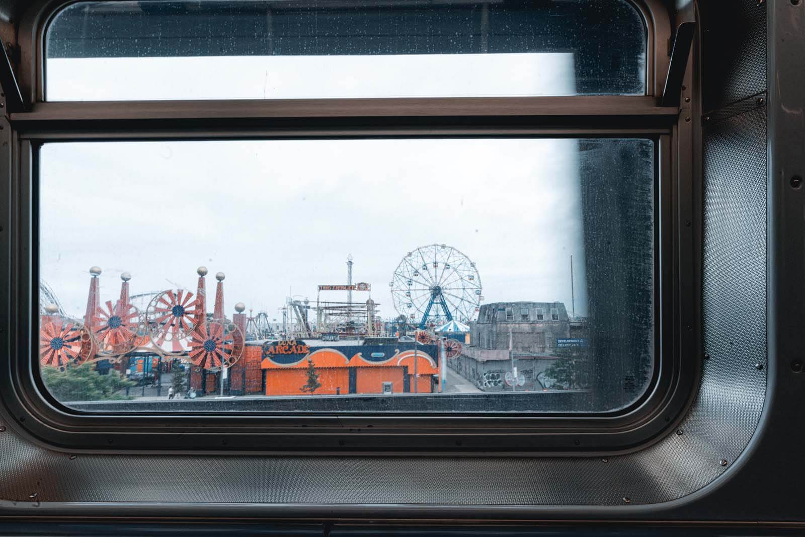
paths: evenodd
<path fill-rule="evenodd" d="M 48 101 L 573 95 L 569 52 L 52 59 Z"/>

